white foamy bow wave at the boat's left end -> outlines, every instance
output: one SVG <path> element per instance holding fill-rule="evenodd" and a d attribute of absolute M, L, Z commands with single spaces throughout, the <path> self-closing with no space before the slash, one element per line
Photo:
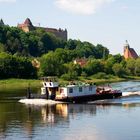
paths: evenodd
<path fill-rule="evenodd" d="M 21 99 L 19 100 L 19 102 L 28 105 L 52 105 L 52 104 L 62 103 L 62 102 L 46 100 L 46 99 Z"/>

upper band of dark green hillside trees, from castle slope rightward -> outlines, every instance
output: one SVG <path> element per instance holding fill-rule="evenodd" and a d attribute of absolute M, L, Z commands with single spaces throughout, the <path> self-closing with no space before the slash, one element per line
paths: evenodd
<path fill-rule="evenodd" d="M 16 56 L 40 57 L 57 48 L 74 50 L 75 57 L 107 57 L 109 50 L 102 45 L 96 45 L 80 40 L 64 41 L 43 29 L 25 33 L 21 29 L 0 26 L 0 52 Z M 103 56 L 104 55 L 104 56 Z"/>

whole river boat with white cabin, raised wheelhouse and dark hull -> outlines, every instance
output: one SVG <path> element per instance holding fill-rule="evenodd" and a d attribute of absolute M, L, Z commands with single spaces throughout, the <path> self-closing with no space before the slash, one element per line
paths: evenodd
<path fill-rule="evenodd" d="M 83 103 L 95 100 L 114 99 L 122 96 L 120 90 L 111 87 L 98 87 L 96 84 L 70 82 L 68 85 L 60 86 L 56 77 L 42 78 L 41 95 L 28 98 L 45 98 L 48 100 Z"/>

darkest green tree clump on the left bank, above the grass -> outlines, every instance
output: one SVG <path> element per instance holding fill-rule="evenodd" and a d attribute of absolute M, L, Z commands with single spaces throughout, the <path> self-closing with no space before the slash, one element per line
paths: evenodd
<path fill-rule="evenodd" d="M 36 78 L 36 69 L 28 58 L 0 53 L 0 79 Z"/>

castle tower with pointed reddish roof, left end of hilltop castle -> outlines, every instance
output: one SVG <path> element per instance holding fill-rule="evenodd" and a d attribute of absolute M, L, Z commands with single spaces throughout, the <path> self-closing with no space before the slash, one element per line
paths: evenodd
<path fill-rule="evenodd" d="M 34 30 L 34 26 L 29 18 L 27 18 L 23 24 L 18 24 L 18 28 L 22 29 L 24 32 Z"/>

